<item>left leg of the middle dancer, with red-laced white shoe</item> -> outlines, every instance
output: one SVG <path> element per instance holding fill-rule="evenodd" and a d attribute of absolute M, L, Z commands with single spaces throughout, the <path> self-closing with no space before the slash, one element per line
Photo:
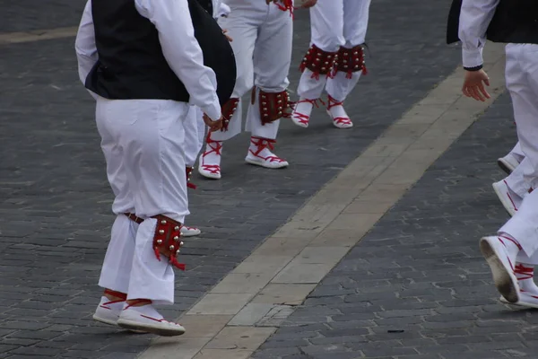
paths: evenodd
<path fill-rule="evenodd" d="M 232 106 L 228 113 L 225 113 L 224 107 L 222 111 L 222 114 L 229 118 L 230 122 L 221 131 L 208 134 L 205 151 L 200 156 L 198 172 L 208 179 L 221 179 L 222 142 L 241 132 L 242 106 L 240 99 L 254 84 L 252 57 L 257 37 L 257 26 L 256 23 L 250 22 L 251 16 L 248 9 L 233 9 L 227 18 L 219 20 L 222 29 L 228 30 L 228 35 L 233 39 L 230 45 L 236 57 L 238 78 L 231 94 Z"/>

